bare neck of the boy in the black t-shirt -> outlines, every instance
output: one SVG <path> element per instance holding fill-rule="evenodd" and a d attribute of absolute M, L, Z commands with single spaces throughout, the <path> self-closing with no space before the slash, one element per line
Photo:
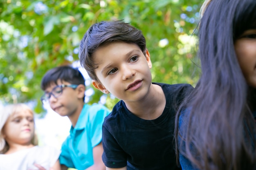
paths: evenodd
<path fill-rule="evenodd" d="M 126 107 L 131 113 L 141 119 L 153 120 L 162 115 L 166 98 L 162 87 L 157 84 L 151 84 L 149 93 L 144 99 L 137 102 L 126 102 Z"/>

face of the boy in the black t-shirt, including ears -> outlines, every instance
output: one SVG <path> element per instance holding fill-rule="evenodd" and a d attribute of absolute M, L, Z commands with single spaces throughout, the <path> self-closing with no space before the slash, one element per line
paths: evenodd
<path fill-rule="evenodd" d="M 95 88 L 124 102 L 139 101 L 147 95 L 152 81 L 148 51 L 145 57 L 136 44 L 112 42 L 99 47 L 93 57 L 99 79 L 92 80 Z"/>

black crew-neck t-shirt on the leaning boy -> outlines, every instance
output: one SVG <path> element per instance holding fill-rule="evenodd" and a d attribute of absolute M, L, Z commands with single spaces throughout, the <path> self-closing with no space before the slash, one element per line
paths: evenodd
<path fill-rule="evenodd" d="M 109 168 L 127 170 L 180 170 L 173 141 L 177 105 L 190 93 L 189 84 L 160 84 L 166 106 L 162 115 L 145 120 L 133 115 L 119 101 L 103 123 L 103 162 Z"/>

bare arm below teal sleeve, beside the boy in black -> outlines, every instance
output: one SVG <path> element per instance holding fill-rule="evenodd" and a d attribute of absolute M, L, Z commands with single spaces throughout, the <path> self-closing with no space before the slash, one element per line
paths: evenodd
<path fill-rule="evenodd" d="M 102 143 L 99 143 L 97 146 L 94 146 L 92 150 L 94 164 L 89 168 L 87 168 L 86 170 L 106 170 L 106 166 L 104 165 L 101 158 L 102 153 L 103 153 Z"/>

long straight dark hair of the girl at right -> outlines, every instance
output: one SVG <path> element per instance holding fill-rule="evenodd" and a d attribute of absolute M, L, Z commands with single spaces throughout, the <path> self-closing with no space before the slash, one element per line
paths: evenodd
<path fill-rule="evenodd" d="M 177 159 L 182 154 L 200 170 L 254 170 L 256 90 L 246 83 L 234 42 L 256 29 L 256 0 L 208 0 L 203 11 L 202 75 L 175 119 Z"/>

